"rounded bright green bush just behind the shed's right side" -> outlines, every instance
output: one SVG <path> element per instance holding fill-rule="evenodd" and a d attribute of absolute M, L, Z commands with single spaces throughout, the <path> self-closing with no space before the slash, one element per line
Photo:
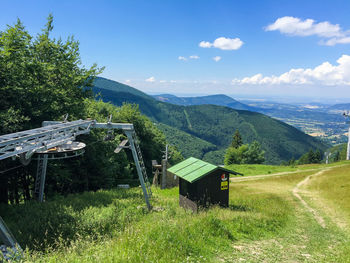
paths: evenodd
<path fill-rule="evenodd" d="M 230 146 L 225 154 L 225 165 L 230 164 L 261 164 L 265 161 L 265 151 L 257 141 L 250 145 L 243 144 L 238 148 Z"/>

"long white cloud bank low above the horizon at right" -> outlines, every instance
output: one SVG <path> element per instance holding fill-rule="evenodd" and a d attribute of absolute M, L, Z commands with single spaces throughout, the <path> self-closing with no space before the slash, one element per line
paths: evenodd
<path fill-rule="evenodd" d="M 350 56 L 342 55 L 337 60 L 337 65 L 332 65 L 329 62 L 324 62 L 315 68 L 299 68 L 291 69 L 280 76 L 263 76 L 256 74 L 243 79 L 234 79 L 234 85 L 350 85 Z"/>

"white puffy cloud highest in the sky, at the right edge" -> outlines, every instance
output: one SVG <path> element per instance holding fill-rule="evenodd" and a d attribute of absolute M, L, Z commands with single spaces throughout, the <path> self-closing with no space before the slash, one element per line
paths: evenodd
<path fill-rule="evenodd" d="M 279 31 L 290 36 L 318 36 L 320 44 L 334 46 L 350 43 L 350 32 L 343 31 L 338 24 L 328 21 L 317 23 L 313 19 L 302 20 L 297 17 L 284 16 L 265 27 L 266 31 Z"/>

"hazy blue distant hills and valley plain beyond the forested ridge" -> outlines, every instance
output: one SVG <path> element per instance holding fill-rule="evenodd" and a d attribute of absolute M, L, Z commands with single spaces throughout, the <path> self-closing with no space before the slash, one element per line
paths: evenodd
<path fill-rule="evenodd" d="M 226 95 L 211 95 L 199 97 L 176 97 L 171 94 L 153 96 L 159 101 L 177 105 L 204 105 L 213 104 L 226 106 L 237 110 L 249 110 L 268 115 L 298 128 L 326 143 L 336 145 L 345 142 L 344 136 L 347 128 L 344 126 L 342 114 L 349 108 L 349 104 L 336 104 L 333 106 L 323 104 L 286 104 L 265 100 L 237 101 Z"/>

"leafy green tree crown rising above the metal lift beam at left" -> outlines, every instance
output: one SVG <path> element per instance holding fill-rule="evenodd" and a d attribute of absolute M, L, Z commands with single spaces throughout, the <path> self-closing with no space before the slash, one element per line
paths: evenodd
<path fill-rule="evenodd" d="M 29 35 L 20 20 L 0 34 L 0 134 L 41 126 L 68 113 L 83 113 L 82 102 L 101 69 L 81 66 L 79 43 L 50 38 L 50 15 L 42 33 Z M 15 124 L 12 126 L 12 124 Z"/>

